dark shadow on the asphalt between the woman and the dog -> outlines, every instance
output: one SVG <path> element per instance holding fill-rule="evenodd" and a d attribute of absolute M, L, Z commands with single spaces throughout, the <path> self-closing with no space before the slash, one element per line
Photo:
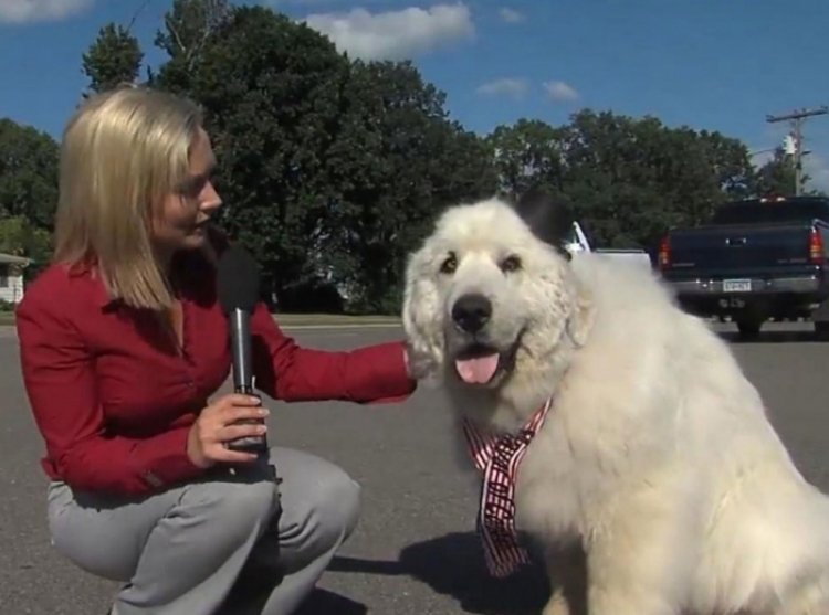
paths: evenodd
<path fill-rule="evenodd" d="M 411 544 L 400 552 L 397 562 L 338 556 L 328 570 L 411 576 L 439 594 L 452 596 L 465 613 L 479 615 L 536 614 L 549 596 L 549 585 L 539 565 L 524 566 L 505 580 L 490 576 L 480 540 L 473 532 Z"/>

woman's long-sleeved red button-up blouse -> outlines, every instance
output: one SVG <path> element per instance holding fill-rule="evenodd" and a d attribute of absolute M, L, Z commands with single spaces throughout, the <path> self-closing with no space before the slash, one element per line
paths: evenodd
<path fill-rule="evenodd" d="M 228 324 L 214 268 L 200 256 L 181 261 L 183 352 L 153 314 L 109 300 L 90 269 L 53 265 L 27 288 L 17 309 L 20 358 L 50 478 L 139 495 L 203 471 L 187 456 L 187 437 L 229 377 Z M 401 343 L 300 348 L 263 304 L 251 330 L 256 388 L 271 397 L 371 403 L 414 391 Z"/>

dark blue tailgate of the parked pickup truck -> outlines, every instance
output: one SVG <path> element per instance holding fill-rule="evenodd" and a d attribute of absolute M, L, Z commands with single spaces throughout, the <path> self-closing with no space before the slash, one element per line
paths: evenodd
<path fill-rule="evenodd" d="M 671 269 L 767 271 L 809 262 L 808 223 L 703 226 L 671 233 Z M 689 272 L 690 273 L 690 272 Z"/>

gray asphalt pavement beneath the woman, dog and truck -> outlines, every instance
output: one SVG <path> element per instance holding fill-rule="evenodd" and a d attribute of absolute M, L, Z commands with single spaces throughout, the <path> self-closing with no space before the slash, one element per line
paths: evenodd
<path fill-rule="evenodd" d="M 733 348 L 801 470 L 829 490 L 829 344 L 798 330 L 805 326 L 773 326 L 758 342 Z M 400 332 L 295 335 L 307 346 L 347 349 Z M 8 329 L 0 329 L 0 615 L 103 615 L 115 585 L 76 570 L 50 547 L 42 443 Z M 504 582 L 484 574 L 471 531 L 474 476 L 454 459 L 449 416 L 433 392 L 420 390 L 398 406 L 270 407 L 272 441 L 334 460 L 364 489 L 360 524 L 304 615 L 537 613 L 545 597 L 539 571 Z"/>

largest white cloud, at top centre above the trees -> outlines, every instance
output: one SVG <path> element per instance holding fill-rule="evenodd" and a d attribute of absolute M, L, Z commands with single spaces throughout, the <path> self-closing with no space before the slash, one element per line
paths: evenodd
<path fill-rule="evenodd" d="M 475 35 L 472 13 L 462 3 L 378 13 L 353 9 L 311 14 L 304 21 L 329 36 L 340 51 L 363 60 L 410 60 Z"/>

